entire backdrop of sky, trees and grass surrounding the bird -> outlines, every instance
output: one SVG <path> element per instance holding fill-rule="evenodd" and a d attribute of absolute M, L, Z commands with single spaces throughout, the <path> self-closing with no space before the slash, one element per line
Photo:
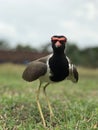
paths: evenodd
<path fill-rule="evenodd" d="M 67 37 L 79 82 L 47 87 L 53 122 L 41 95 L 47 127 L 98 129 L 98 0 L 0 0 L 0 130 L 44 130 L 36 106 L 39 82 L 24 81 L 22 73 L 52 52 L 53 35 Z"/>

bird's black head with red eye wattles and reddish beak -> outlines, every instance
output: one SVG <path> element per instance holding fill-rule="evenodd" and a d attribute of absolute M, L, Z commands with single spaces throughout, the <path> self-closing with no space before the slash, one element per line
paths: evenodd
<path fill-rule="evenodd" d="M 65 36 L 52 36 L 52 48 L 54 52 L 64 52 L 67 38 Z"/>

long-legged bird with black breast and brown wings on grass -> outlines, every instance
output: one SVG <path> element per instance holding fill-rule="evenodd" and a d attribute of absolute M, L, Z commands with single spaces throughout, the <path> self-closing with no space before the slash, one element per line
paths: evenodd
<path fill-rule="evenodd" d="M 40 88 L 43 86 L 43 83 L 45 84 L 43 86 L 43 93 L 47 100 L 51 119 L 54 113 L 46 93 L 47 86 L 63 80 L 71 80 L 73 83 L 77 83 L 79 79 L 77 67 L 66 55 L 66 43 L 67 38 L 64 35 L 52 36 L 51 47 L 53 52 L 45 57 L 31 61 L 22 74 L 22 78 L 28 82 L 39 79 L 36 101 L 44 127 L 46 127 L 46 121 L 39 102 Z"/>

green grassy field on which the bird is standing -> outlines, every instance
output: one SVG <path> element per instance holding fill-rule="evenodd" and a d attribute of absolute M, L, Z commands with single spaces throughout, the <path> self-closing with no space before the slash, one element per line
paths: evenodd
<path fill-rule="evenodd" d="M 38 80 L 21 78 L 25 66 L 0 65 L 0 130 L 44 130 L 36 104 Z M 78 68 L 77 84 L 49 85 L 47 94 L 54 111 L 52 122 L 40 95 L 47 130 L 98 130 L 98 69 Z"/>

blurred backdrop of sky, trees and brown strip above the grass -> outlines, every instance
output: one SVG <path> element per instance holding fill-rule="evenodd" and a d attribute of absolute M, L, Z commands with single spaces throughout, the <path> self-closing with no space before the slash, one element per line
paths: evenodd
<path fill-rule="evenodd" d="M 45 56 L 51 36 L 65 35 L 75 64 L 98 67 L 97 5 L 97 0 L 0 0 L 0 63 Z"/>

